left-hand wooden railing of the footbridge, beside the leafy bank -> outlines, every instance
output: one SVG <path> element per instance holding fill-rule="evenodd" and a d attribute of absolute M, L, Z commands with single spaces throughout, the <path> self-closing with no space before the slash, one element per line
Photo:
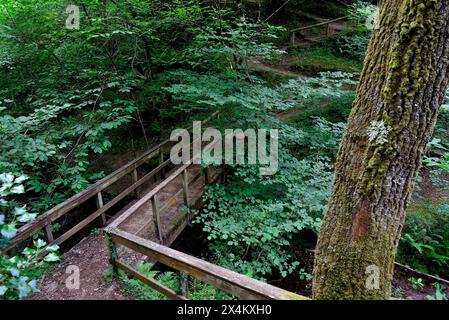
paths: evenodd
<path fill-rule="evenodd" d="M 208 122 L 212 118 L 217 117 L 219 112 L 213 113 L 209 118 L 204 120 L 203 122 Z M 191 130 L 191 128 L 190 128 Z M 30 238 L 35 233 L 45 230 L 45 234 L 47 236 L 48 245 L 61 244 L 75 235 L 77 232 L 87 227 L 91 222 L 95 219 L 101 217 L 102 223 L 105 226 L 110 221 L 106 219 L 106 211 L 110 210 L 114 205 L 119 203 L 129 194 L 138 191 L 138 188 L 142 186 L 144 183 L 150 181 L 151 178 L 155 177 L 159 173 L 163 173 L 165 168 L 170 164 L 170 160 L 164 160 L 164 153 L 169 150 L 169 148 L 174 144 L 170 140 L 165 140 L 159 145 L 151 148 L 143 155 L 138 157 L 137 159 L 131 161 L 130 163 L 122 166 L 116 171 L 112 172 L 105 178 L 99 180 L 98 182 L 91 185 L 89 188 L 84 191 L 74 195 L 73 197 L 67 199 L 66 201 L 60 203 L 59 205 L 53 207 L 48 210 L 44 214 L 37 217 L 34 221 L 22 226 L 17 231 L 17 234 L 11 239 L 10 243 L 3 249 L 3 252 L 7 252 L 19 244 Z M 158 157 L 159 165 L 151 172 L 145 174 L 142 178 L 138 177 L 137 169 L 142 166 L 146 161 L 152 158 Z M 102 191 L 107 187 L 111 186 L 113 183 L 117 182 L 121 178 L 126 175 L 132 175 L 132 185 L 122 190 L 116 197 L 110 200 L 107 203 L 104 203 Z M 64 232 L 58 238 L 54 238 L 52 231 L 52 223 L 54 223 L 57 219 L 66 215 L 71 210 L 81 206 L 86 203 L 86 201 L 96 198 L 97 210 L 90 213 L 88 217 L 84 220 L 70 228 L 68 231 Z"/>

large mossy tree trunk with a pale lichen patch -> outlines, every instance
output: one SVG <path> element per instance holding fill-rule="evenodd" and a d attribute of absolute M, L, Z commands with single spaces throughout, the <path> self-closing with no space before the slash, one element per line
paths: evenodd
<path fill-rule="evenodd" d="M 386 299 L 448 86 L 449 0 L 383 0 L 318 237 L 315 299 Z"/>

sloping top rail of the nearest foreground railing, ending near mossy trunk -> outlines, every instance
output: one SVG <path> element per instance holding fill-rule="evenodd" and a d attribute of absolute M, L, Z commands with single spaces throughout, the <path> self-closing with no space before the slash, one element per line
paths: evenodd
<path fill-rule="evenodd" d="M 109 233 L 118 244 L 241 299 L 309 300 L 133 234 L 118 229 L 109 229 Z"/>

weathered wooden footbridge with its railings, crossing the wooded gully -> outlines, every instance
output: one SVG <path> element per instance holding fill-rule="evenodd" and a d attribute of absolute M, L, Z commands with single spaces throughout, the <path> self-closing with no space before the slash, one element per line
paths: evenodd
<path fill-rule="evenodd" d="M 218 113 L 212 115 L 218 116 Z M 240 299 L 307 299 L 170 248 L 189 225 L 190 209 L 201 206 L 205 186 L 220 180 L 223 172 L 222 167 L 202 168 L 195 164 L 195 155 L 187 163 L 174 166 L 167 156 L 174 144 L 169 140 L 162 142 L 24 225 L 4 251 L 13 250 L 42 230 L 48 245 L 60 245 L 79 237 L 93 223 L 101 223 L 109 241 L 110 262 L 114 269 L 124 270 L 170 299 L 188 299 L 188 277 Z M 211 147 L 203 146 L 203 150 Z M 157 164 L 147 169 L 149 161 Z M 119 193 L 105 199 L 105 191 L 116 184 L 119 184 L 115 188 L 120 190 Z M 95 206 L 92 206 L 93 202 Z M 66 222 L 64 225 L 67 221 L 72 222 L 71 226 L 54 234 L 52 224 L 62 221 Z M 127 264 L 126 256 L 130 253 L 177 270 L 183 279 L 179 290 L 175 292 Z"/>

